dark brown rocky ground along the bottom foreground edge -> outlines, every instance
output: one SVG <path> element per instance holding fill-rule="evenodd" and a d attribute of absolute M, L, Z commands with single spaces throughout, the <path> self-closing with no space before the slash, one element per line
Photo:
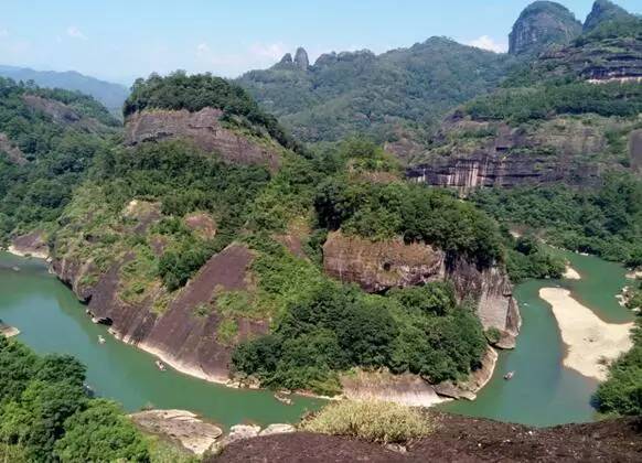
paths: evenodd
<path fill-rule="evenodd" d="M 436 432 L 406 453 L 353 439 L 298 432 L 238 441 L 210 462 L 642 461 L 642 418 L 535 429 L 439 414 Z"/>

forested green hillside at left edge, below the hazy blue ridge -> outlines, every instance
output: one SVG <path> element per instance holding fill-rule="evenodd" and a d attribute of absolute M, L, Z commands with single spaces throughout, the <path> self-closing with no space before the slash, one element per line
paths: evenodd
<path fill-rule="evenodd" d="M 31 108 L 25 95 L 65 104 L 82 117 L 81 122 L 94 119 L 100 123 L 60 123 Z M 109 149 L 117 125 L 100 104 L 85 95 L 0 78 L 0 132 L 8 140 L 0 151 L 14 153 L 0 157 L 0 241 L 6 243 L 12 232 L 53 223 L 92 159 Z"/>

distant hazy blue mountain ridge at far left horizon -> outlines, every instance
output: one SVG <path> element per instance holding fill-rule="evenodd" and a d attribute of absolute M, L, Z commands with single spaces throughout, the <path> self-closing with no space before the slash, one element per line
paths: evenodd
<path fill-rule="evenodd" d="M 0 76 L 15 82 L 28 83 L 33 80 L 35 85 L 43 88 L 62 88 L 90 95 L 116 116 L 120 116 L 122 104 L 127 95 L 129 95 L 129 90 L 124 85 L 99 80 L 75 71 L 61 73 L 34 71 L 28 67 L 0 66 Z"/>

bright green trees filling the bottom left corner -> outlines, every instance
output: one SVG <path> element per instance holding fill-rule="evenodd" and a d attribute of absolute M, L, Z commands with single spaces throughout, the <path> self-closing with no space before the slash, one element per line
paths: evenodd
<path fill-rule="evenodd" d="M 85 367 L 35 356 L 0 336 L 0 449 L 12 461 L 148 461 L 142 438 L 115 405 L 87 397 Z"/>

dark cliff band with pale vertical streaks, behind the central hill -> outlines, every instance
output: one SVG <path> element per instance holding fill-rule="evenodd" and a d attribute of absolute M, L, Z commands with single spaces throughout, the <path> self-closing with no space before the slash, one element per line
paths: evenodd
<path fill-rule="evenodd" d="M 443 123 L 427 160 L 408 168 L 406 175 L 463 194 L 482 186 L 559 181 L 590 186 L 599 181 L 601 169 L 593 158 L 606 146 L 599 127 L 571 118 L 512 128 L 456 115 Z"/>

